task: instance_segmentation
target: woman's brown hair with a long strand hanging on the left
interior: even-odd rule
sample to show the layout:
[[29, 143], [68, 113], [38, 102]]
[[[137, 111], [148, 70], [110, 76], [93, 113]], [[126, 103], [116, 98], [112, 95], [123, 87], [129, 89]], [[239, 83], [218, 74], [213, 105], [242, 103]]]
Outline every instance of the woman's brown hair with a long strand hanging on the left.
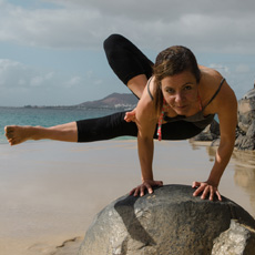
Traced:
[[191, 73], [195, 76], [196, 82], [200, 82], [201, 71], [198, 69], [196, 58], [190, 49], [182, 45], [174, 45], [157, 54], [153, 67], [153, 74], [156, 84], [155, 108], [159, 113], [163, 106], [161, 81], [166, 76], [172, 76], [183, 71], [191, 71]]

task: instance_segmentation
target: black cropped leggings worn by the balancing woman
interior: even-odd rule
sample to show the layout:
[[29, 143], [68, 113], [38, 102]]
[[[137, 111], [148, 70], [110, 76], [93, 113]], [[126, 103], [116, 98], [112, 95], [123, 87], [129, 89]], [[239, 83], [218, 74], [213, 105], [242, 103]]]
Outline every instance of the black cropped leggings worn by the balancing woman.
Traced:
[[[145, 74], [147, 79], [152, 75], [153, 62], [126, 38], [120, 34], [110, 35], [104, 41], [104, 51], [110, 67], [124, 84], [139, 74]], [[125, 122], [124, 115], [125, 112], [119, 112], [103, 118], [78, 121], [78, 142], [110, 140], [123, 135], [137, 136], [136, 124]], [[162, 125], [162, 139], [185, 140], [201, 131], [190, 122], [176, 121]], [[154, 137], [157, 137], [156, 130]]]

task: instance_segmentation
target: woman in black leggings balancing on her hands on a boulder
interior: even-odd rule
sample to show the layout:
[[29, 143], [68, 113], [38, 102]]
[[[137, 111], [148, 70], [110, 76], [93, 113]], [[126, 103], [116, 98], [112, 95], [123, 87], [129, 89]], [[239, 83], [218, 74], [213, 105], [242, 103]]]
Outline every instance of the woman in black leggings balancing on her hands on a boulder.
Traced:
[[185, 140], [202, 132], [218, 115], [221, 143], [207, 181], [194, 182], [194, 196], [216, 194], [222, 174], [231, 159], [237, 118], [237, 102], [225, 79], [213, 69], [197, 65], [194, 54], [184, 47], [162, 51], [153, 63], [128, 39], [112, 34], [104, 41], [109, 63], [115, 74], [140, 99], [132, 112], [83, 120], [52, 128], [6, 126], [11, 145], [27, 140], [51, 139], [92, 142], [121, 135], [137, 136], [142, 184], [131, 194], [143, 196], [154, 181], [153, 139]]

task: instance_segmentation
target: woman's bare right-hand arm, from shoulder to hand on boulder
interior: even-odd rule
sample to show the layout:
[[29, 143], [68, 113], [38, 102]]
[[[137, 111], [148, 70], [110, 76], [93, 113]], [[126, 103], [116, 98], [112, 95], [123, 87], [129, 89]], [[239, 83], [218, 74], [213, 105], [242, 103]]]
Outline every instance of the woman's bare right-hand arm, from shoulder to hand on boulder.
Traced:
[[193, 195], [197, 196], [202, 193], [201, 197], [205, 198], [210, 194], [210, 200], [213, 200], [214, 194], [217, 195], [218, 200], [222, 200], [217, 187], [235, 144], [237, 101], [234, 92], [227, 84], [223, 85], [216, 105], [220, 120], [221, 143], [216, 151], [215, 162], [206, 182], [193, 183], [193, 187], [198, 186]]

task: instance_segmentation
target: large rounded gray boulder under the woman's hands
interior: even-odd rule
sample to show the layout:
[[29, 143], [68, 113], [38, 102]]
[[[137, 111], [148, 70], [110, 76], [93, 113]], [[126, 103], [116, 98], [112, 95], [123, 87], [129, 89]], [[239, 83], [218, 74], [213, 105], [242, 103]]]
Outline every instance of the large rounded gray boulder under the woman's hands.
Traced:
[[[120, 197], [96, 215], [79, 255], [254, 255], [254, 218], [225, 197], [211, 202], [193, 192], [165, 185], [143, 197]], [[221, 253], [223, 245], [239, 253]]]

